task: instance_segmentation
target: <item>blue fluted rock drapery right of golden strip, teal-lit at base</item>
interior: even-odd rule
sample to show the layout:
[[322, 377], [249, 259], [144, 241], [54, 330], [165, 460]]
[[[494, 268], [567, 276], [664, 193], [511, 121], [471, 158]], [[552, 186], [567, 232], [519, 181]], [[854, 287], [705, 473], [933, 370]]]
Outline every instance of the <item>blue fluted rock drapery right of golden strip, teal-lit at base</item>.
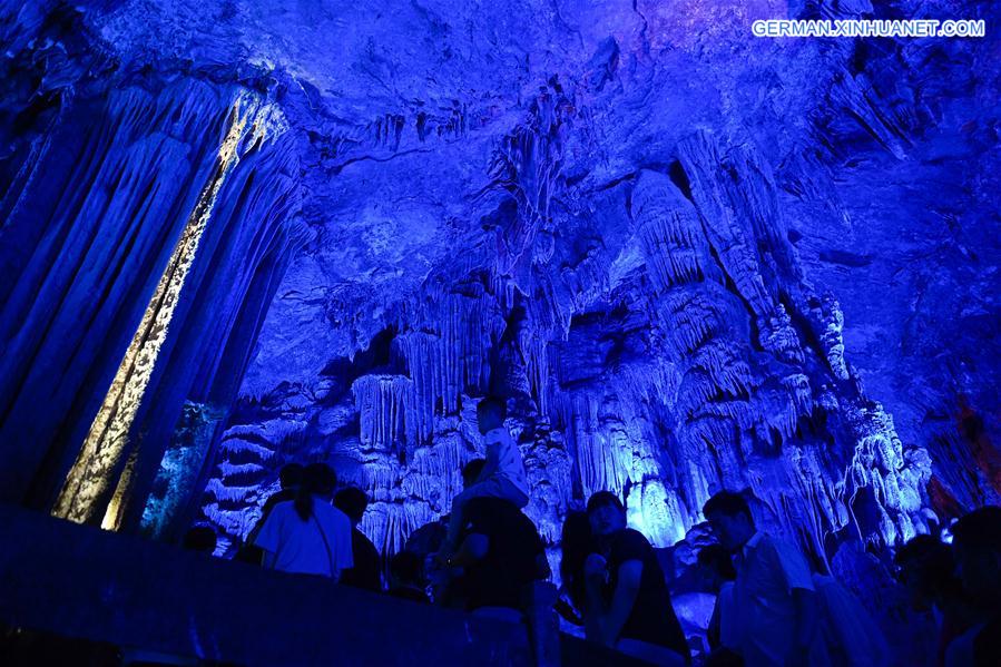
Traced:
[[[141, 448], [122, 517], [128, 528], [155, 532], [156, 524], [177, 531], [197, 510], [190, 496], [181, 504], [163, 502], [156, 482], [169, 468], [167, 454], [184, 441], [181, 401], [230, 404], [263, 313], [289, 257], [308, 236], [296, 217], [298, 167], [287, 136], [281, 112], [262, 105], [254, 131], [241, 139], [239, 161], [223, 186], [189, 288], [181, 293], [176, 330], [160, 350], [163, 372], [137, 413], [134, 431]], [[197, 485], [207, 479], [226, 416], [204, 435], [205, 457], [189, 472]], [[160, 516], [157, 507], [170, 508], [169, 516]]]

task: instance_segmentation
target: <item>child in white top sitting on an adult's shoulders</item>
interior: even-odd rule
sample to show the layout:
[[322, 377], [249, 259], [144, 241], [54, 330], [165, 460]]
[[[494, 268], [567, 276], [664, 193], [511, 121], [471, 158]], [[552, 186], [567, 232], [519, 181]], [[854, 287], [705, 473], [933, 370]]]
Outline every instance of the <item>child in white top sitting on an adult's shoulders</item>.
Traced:
[[480, 477], [465, 484], [462, 493], [452, 499], [452, 517], [445, 537], [443, 556], [455, 549], [459, 533], [465, 524], [463, 508], [473, 498], [499, 498], [523, 508], [529, 501], [528, 481], [521, 451], [511, 438], [504, 419], [507, 405], [503, 399], [485, 396], [477, 404], [477, 421], [487, 445], [487, 463]]

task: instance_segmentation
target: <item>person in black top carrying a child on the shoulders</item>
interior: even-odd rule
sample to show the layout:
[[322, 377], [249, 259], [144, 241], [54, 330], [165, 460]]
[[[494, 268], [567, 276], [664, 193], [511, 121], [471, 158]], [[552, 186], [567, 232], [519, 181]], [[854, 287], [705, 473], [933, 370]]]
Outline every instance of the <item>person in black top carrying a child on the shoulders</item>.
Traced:
[[[475, 465], [467, 465], [463, 477], [475, 479]], [[465, 570], [457, 587], [468, 611], [521, 610], [526, 586], [550, 573], [536, 524], [510, 500], [489, 497], [473, 498], [463, 508], [460, 547], [446, 566]]]

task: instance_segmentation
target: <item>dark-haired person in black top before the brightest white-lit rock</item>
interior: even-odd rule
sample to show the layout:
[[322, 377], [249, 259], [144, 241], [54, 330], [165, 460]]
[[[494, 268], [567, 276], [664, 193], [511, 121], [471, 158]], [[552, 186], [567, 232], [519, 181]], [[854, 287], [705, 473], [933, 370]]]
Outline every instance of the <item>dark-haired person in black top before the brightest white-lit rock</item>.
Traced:
[[626, 528], [626, 508], [609, 491], [588, 500], [595, 536], [583, 566], [589, 639], [656, 665], [686, 665], [688, 643], [650, 542]]

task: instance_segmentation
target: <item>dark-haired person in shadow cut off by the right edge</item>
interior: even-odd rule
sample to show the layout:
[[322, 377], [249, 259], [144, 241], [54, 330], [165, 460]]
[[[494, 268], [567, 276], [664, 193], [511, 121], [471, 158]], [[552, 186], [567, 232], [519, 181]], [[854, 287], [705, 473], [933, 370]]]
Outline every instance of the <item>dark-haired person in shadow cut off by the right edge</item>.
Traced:
[[1001, 665], [1001, 508], [982, 507], [952, 527], [956, 573], [979, 621], [945, 653], [949, 667]]

